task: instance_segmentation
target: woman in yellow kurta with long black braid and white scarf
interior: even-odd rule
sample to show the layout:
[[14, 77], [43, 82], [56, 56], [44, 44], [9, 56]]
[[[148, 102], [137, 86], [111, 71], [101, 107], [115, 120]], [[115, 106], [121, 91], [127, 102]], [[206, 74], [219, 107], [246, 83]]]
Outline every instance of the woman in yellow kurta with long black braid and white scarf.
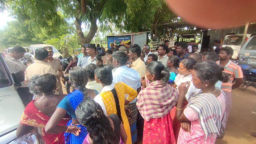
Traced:
[[[132, 144], [131, 131], [124, 105], [137, 96], [137, 91], [124, 83], [113, 83], [111, 68], [107, 65], [99, 65], [95, 70], [95, 80], [102, 84], [103, 89], [94, 100], [100, 104], [106, 115], [116, 114], [123, 122], [127, 134], [127, 144]], [[125, 94], [129, 96], [125, 99]]]

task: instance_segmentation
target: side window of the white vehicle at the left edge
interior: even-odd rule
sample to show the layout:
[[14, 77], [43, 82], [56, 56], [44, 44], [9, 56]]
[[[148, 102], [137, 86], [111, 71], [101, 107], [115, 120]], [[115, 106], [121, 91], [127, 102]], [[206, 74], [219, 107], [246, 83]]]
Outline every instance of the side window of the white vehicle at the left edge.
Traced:
[[12, 84], [11, 78], [8, 76], [4, 63], [0, 63], [0, 88], [7, 87]]

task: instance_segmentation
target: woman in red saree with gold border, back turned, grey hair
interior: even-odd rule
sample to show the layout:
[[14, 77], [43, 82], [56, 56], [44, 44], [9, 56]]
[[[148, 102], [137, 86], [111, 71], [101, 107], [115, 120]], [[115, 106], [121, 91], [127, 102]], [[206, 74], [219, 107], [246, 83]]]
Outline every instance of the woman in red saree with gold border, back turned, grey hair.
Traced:
[[[64, 95], [54, 94], [56, 88], [56, 76], [45, 74], [39, 76], [34, 84], [34, 87], [39, 92], [42, 92], [42, 97], [38, 100], [32, 100], [25, 108], [20, 118], [20, 124], [16, 135], [22, 136], [34, 128], [40, 128], [42, 138], [46, 144], [63, 144], [64, 132], [58, 134], [46, 133], [44, 127], [55, 111], [60, 100]], [[62, 118], [59, 125], [66, 126], [69, 118]], [[73, 131], [74, 128], [69, 128], [68, 131]]]

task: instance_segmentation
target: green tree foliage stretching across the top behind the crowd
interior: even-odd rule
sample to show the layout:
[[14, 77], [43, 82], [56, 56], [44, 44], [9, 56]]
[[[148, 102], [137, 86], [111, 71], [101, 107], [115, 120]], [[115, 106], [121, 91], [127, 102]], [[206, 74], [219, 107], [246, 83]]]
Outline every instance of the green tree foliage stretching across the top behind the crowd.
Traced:
[[[5, 4], [7, 10], [17, 20], [15, 25], [8, 25], [4, 31], [0, 31], [4, 37], [0, 40], [1, 47], [44, 42], [58, 49], [65, 47], [66, 53], [70, 53], [73, 48], [78, 47], [78, 43], [106, 39], [99, 35], [99, 31], [96, 32], [97, 28], [90, 27], [96, 24], [95, 21], [98, 21], [98, 27], [104, 35], [151, 31], [151, 39], [159, 39], [163, 35], [170, 37], [169, 34], [173, 32], [166, 29], [163, 33], [164, 28], [159, 24], [179, 20], [166, 6], [164, 0], [6, 0], [1, 2], [0, 0], [0, 4]], [[90, 29], [84, 33], [81, 24], [85, 24]], [[67, 43], [69, 45], [64, 46]]]

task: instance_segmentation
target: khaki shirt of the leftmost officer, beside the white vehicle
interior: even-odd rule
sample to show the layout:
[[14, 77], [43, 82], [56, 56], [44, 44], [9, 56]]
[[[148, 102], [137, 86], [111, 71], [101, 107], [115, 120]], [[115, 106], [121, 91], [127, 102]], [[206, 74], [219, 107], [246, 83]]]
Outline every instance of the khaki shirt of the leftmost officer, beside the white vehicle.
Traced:
[[[26, 66], [21, 63], [20, 60], [16, 60], [15, 58], [13, 57], [10, 57], [10, 56], [6, 56], [4, 58], [8, 68], [10, 69], [11, 73], [13, 72], [18, 72], [18, 71], [25, 71], [26, 69]], [[25, 84], [25, 82], [21, 82], [21, 86], [20, 87], [27, 87], [27, 85]]]

